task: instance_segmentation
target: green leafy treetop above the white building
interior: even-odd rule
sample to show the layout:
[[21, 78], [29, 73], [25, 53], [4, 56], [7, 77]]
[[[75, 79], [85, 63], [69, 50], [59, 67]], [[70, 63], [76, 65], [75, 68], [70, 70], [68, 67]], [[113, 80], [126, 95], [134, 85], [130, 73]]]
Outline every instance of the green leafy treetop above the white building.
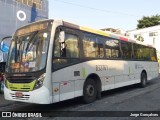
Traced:
[[138, 20], [137, 29], [160, 25], [160, 15], [143, 16], [142, 19]]

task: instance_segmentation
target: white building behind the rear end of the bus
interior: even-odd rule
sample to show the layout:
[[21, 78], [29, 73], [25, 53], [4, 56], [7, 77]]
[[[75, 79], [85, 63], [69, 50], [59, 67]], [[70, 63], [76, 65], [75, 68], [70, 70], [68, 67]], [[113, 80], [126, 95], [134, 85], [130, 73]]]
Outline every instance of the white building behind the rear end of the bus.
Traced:
[[127, 31], [127, 36], [133, 40], [140, 40], [146, 44], [155, 46], [160, 62], [160, 25], [138, 30]]

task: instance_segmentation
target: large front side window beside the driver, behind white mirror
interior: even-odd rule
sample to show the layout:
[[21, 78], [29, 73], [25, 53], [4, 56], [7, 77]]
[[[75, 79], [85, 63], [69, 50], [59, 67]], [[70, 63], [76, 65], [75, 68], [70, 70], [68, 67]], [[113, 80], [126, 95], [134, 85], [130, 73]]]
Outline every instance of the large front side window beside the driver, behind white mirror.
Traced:
[[[63, 34], [60, 34], [63, 32]], [[54, 42], [53, 70], [79, 61], [78, 35], [57, 31]]]

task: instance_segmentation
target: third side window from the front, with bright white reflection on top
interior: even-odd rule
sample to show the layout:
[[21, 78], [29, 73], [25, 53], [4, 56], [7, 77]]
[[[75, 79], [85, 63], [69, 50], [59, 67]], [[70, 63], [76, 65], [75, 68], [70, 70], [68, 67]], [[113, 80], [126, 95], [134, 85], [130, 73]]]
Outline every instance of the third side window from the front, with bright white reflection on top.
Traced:
[[105, 49], [106, 49], [107, 58], [119, 58], [120, 57], [120, 49], [119, 49], [118, 40], [108, 39], [105, 42]]

